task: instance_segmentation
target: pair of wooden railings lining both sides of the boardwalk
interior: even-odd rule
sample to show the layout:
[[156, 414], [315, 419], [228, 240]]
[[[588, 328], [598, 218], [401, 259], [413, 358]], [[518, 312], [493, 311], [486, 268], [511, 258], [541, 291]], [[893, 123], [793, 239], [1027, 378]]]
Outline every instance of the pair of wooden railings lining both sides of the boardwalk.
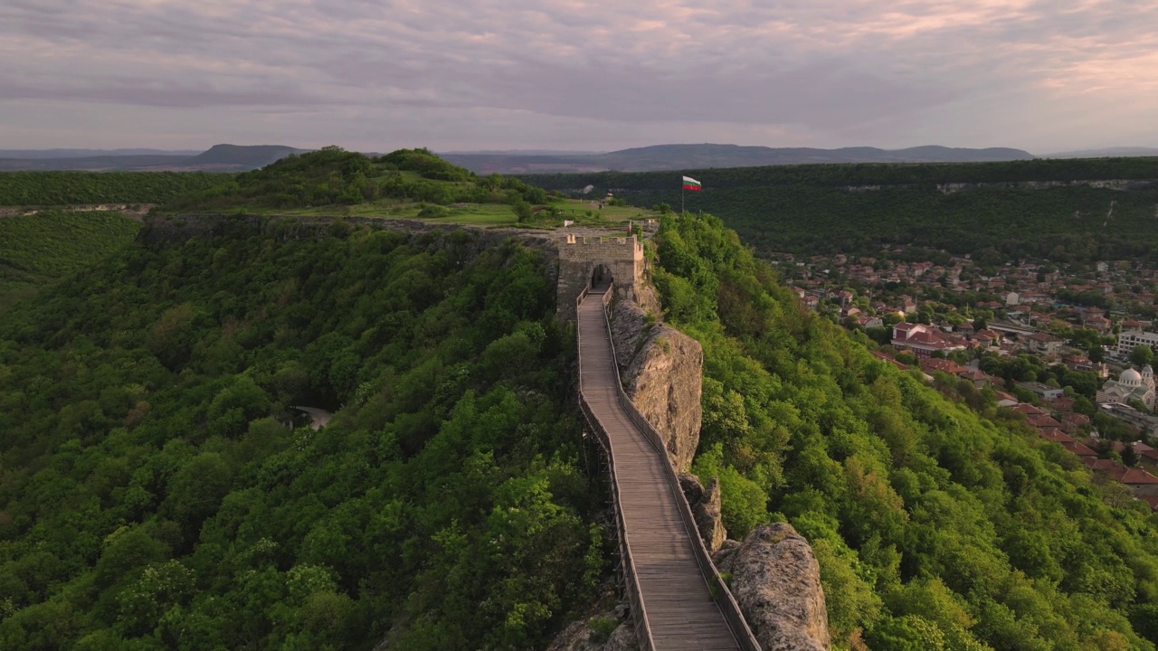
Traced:
[[[683, 489], [680, 487], [680, 477], [675, 471], [675, 467], [672, 465], [672, 459], [667, 454], [667, 446], [664, 442], [664, 438], [655, 431], [655, 427], [652, 426], [647, 418], [639, 412], [636, 405], [631, 402], [631, 398], [629, 398], [628, 394], [623, 390], [623, 380], [620, 376], [620, 365], [615, 354], [615, 339], [611, 337], [611, 324], [608, 319], [608, 303], [614, 294], [613, 288], [614, 286], [609, 286], [601, 299], [603, 303], [603, 322], [607, 327], [607, 336], [611, 346], [611, 367], [615, 370], [615, 390], [617, 402], [626, 412], [631, 422], [639, 427], [639, 431], [643, 432], [644, 437], [654, 448], [655, 453], [662, 458], [664, 476], [667, 480], [668, 490], [672, 491], [672, 495], [675, 498], [675, 503], [680, 511], [680, 519], [683, 521], [683, 527], [688, 533], [688, 537], [691, 540], [692, 554], [696, 557], [699, 572], [709, 586], [709, 592], [711, 593], [712, 599], [716, 601], [716, 605], [724, 615], [728, 628], [732, 630], [732, 635], [735, 637], [736, 643], [740, 649], [743, 649], [745, 651], [762, 651], [760, 643], [756, 641], [756, 636], [753, 635], [752, 629], [748, 627], [748, 622], [743, 619], [743, 615], [740, 612], [740, 605], [736, 604], [735, 598], [727, 587], [727, 584], [724, 583], [719, 570], [717, 570], [711, 555], [708, 553], [708, 548], [704, 546], [703, 539], [699, 537], [699, 528], [696, 526], [696, 519], [691, 513], [691, 506], [688, 504], [688, 499], [683, 495]], [[577, 316], [579, 314], [579, 306], [589, 294], [591, 285], [588, 284], [576, 299]], [[620, 558], [624, 573], [623, 578], [626, 587], [628, 601], [631, 605], [631, 612], [636, 623], [636, 639], [639, 641], [642, 649], [651, 651], [655, 649], [654, 639], [639, 587], [639, 578], [636, 571], [636, 565], [631, 559], [631, 543], [628, 537], [626, 528], [624, 527], [623, 511], [620, 506], [622, 499], [620, 495], [620, 485], [616, 481], [615, 454], [611, 449], [610, 437], [608, 436], [607, 430], [603, 427], [599, 417], [595, 416], [582, 392], [582, 341], [579, 338], [579, 328], [576, 328], [576, 336], [579, 342], [579, 405], [584, 416], [587, 418], [588, 424], [592, 426], [592, 430], [594, 430], [600, 446], [607, 453], [608, 473], [611, 478], [611, 499], [616, 515], [616, 533], [620, 542]]]

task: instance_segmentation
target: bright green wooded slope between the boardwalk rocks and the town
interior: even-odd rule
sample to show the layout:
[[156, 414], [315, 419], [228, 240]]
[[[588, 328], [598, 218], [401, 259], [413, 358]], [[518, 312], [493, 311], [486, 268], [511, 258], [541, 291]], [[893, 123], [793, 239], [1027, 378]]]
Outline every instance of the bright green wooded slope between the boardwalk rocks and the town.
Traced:
[[692, 470], [720, 477], [732, 537], [770, 519], [808, 537], [836, 648], [1155, 649], [1149, 507], [972, 383], [875, 360], [717, 218], [657, 237], [666, 317], [704, 345]]

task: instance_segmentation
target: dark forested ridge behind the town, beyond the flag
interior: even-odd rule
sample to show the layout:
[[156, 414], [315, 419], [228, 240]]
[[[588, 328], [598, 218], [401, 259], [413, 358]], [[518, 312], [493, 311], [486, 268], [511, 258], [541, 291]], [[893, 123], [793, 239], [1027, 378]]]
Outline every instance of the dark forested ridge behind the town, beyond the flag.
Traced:
[[[873, 254], [916, 243], [1006, 258], [1158, 259], [1158, 159], [702, 169], [686, 207], [724, 219], [760, 251]], [[522, 176], [592, 184], [644, 206], [680, 205], [677, 173]], [[1073, 184], [1121, 181], [1116, 189]], [[1113, 210], [1111, 210], [1113, 209]]]

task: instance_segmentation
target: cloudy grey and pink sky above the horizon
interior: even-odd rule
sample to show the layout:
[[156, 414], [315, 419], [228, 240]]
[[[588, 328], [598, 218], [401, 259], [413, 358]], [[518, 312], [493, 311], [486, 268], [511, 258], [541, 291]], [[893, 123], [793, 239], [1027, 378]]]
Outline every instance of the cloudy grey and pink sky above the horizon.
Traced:
[[1158, 0], [0, 0], [0, 148], [1158, 146]]

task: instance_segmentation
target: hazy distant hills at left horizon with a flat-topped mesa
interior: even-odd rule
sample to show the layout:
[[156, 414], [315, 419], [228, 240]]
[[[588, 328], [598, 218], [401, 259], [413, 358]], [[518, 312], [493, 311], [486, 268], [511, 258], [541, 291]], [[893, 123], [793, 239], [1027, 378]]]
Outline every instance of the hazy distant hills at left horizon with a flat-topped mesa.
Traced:
[[309, 149], [214, 145], [206, 152], [159, 149], [0, 149], [0, 171], [249, 171]]

